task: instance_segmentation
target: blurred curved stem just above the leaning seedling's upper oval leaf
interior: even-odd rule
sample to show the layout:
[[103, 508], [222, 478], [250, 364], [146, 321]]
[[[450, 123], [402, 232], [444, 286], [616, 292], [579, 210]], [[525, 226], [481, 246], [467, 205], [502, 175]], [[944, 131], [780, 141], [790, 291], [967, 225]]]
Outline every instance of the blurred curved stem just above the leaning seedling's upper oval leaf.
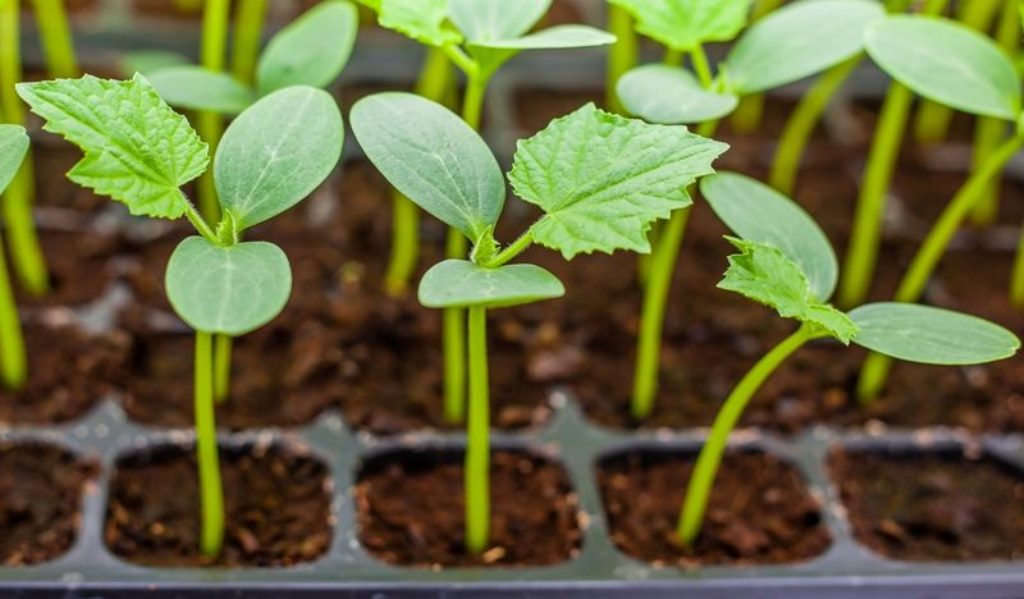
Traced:
[[833, 67], [814, 82], [800, 103], [790, 115], [785, 128], [779, 137], [778, 148], [771, 165], [769, 181], [771, 186], [785, 196], [793, 196], [800, 171], [800, 162], [814, 133], [814, 128], [821, 120], [821, 115], [850, 75], [857, 69], [863, 54], [857, 54], [845, 62]]

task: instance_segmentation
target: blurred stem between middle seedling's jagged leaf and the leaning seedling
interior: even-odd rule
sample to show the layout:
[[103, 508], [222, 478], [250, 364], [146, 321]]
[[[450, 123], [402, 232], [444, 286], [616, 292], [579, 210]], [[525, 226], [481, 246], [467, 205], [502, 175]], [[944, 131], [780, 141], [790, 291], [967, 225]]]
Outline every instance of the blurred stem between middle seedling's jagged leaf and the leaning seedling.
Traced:
[[647, 284], [643, 288], [643, 309], [637, 336], [637, 357], [633, 376], [633, 398], [630, 412], [635, 420], [650, 416], [657, 396], [658, 366], [662, 353], [662, 333], [665, 308], [672, 289], [672, 275], [676, 270], [679, 249], [686, 231], [690, 208], [672, 214], [651, 254]]

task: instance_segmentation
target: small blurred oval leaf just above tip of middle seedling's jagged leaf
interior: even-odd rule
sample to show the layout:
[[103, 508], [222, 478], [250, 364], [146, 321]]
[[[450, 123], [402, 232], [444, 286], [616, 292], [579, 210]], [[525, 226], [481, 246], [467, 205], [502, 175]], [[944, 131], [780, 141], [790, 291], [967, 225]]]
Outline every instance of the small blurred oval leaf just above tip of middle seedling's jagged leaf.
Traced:
[[700, 86], [689, 71], [666, 65], [637, 67], [618, 79], [618, 99], [632, 115], [649, 123], [680, 125], [721, 119], [739, 98]]

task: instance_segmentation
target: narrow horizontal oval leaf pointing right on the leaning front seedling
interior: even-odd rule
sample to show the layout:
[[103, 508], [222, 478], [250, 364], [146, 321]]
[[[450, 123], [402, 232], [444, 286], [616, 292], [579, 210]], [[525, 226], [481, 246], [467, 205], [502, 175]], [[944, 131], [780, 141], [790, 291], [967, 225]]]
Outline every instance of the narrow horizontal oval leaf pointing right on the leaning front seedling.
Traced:
[[998, 325], [930, 306], [867, 304], [850, 317], [860, 328], [854, 343], [907, 361], [983, 363], [1010, 357], [1020, 348], [1017, 336]]

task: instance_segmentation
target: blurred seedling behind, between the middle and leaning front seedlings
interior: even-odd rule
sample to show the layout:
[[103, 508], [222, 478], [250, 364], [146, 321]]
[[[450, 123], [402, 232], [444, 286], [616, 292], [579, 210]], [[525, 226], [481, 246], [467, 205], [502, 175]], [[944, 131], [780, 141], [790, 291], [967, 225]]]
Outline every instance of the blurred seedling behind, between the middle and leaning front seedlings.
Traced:
[[[639, 0], [631, 1], [639, 4]], [[716, 6], [721, 11], [727, 5], [732, 6], [730, 3]], [[638, 18], [643, 18], [643, 14], [648, 19], [654, 18], [654, 13], [640, 12]], [[721, 31], [738, 31], [744, 13], [736, 12], [731, 27]], [[719, 67], [717, 78], [712, 77], [700, 42], [684, 37], [670, 47], [689, 47], [696, 78], [688, 71], [666, 65], [639, 67], [620, 80], [618, 96], [629, 112], [647, 121], [702, 123], [699, 131], [710, 134], [718, 119], [735, 110], [740, 97], [804, 79], [858, 54], [863, 47], [864, 27], [882, 16], [881, 6], [864, 0], [798, 2], [752, 26], [733, 45]], [[684, 27], [688, 18], [680, 15], [678, 22], [658, 22], [658, 25], [676, 35], [689, 29], [716, 31], [707, 24], [703, 29]], [[651, 23], [641, 31], [657, 30]], [[662, 38], [671, 39], [668, 34]], [[646, 270], [631, 408], [636, 419], [649, 416], [657, 395], [665, 309], [687, 216], [687, 211], [673, 216], [654, 242]]]

